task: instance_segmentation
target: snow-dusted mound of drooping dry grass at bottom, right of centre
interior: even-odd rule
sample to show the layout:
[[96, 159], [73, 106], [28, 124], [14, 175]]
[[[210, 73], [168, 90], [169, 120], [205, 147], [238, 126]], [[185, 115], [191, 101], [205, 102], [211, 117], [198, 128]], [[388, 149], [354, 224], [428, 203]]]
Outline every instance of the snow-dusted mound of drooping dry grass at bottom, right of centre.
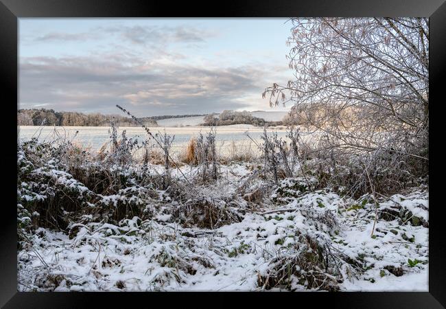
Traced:
[[[316, 201], [321, 201], [317, 198], [320, 194], [313, 195]], [[341, 229], [335, 214], [333, 210], [320, 208], [318, 202], [298, 207], [286, 216], [276, 215], [276, 221], [287, 218], [296, 223], [284, 224], [288, 226], [284, 231], [277, 227], [279, 238], [275, 244], [282, 248], [270, 260], [266, 270], [258, 273], [259, 288], [340, 290], [346, 273], [355, 273], [357, 262], [333, 247], [333, 236]]]

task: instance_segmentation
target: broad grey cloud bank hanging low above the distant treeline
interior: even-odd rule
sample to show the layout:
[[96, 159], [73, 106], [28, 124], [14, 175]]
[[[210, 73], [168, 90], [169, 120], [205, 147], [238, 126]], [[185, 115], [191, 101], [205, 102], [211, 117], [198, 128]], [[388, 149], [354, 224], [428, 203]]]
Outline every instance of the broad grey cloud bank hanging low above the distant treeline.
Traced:
[[237, 98], [263, 91], [261, 71], [252, 67], [202, 69], [149, 67], [126, 56], [111, 58], [25, 58], [20, 64], [20, 104], [47, 104], [56, 111], [116, 113], [115, 104], [138, 116], [210, 113], [244, 108]]

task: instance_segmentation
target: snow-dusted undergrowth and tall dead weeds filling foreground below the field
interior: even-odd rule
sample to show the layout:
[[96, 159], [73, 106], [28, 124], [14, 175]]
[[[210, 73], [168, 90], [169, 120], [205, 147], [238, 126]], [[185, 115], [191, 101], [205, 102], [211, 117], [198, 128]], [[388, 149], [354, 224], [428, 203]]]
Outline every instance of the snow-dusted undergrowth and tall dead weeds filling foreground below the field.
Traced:
[[99, 152], [19, 142], [19, 290], [427, 290], [427, 179], [372, 193], [368, 157], [288, 137], [263, 135], [260, 157], [220, 155], [214, 130], [178, 155], [114, 127]]

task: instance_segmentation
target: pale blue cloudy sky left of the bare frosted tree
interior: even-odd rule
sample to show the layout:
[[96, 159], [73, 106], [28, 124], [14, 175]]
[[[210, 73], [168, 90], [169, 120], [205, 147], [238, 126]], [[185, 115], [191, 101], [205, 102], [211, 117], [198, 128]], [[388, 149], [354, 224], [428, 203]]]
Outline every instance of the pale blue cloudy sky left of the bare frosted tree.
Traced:
[[268, 111], [263, 90], [292, 78], [290, 27], [286, 19], [19, 19], [19, 108]]

